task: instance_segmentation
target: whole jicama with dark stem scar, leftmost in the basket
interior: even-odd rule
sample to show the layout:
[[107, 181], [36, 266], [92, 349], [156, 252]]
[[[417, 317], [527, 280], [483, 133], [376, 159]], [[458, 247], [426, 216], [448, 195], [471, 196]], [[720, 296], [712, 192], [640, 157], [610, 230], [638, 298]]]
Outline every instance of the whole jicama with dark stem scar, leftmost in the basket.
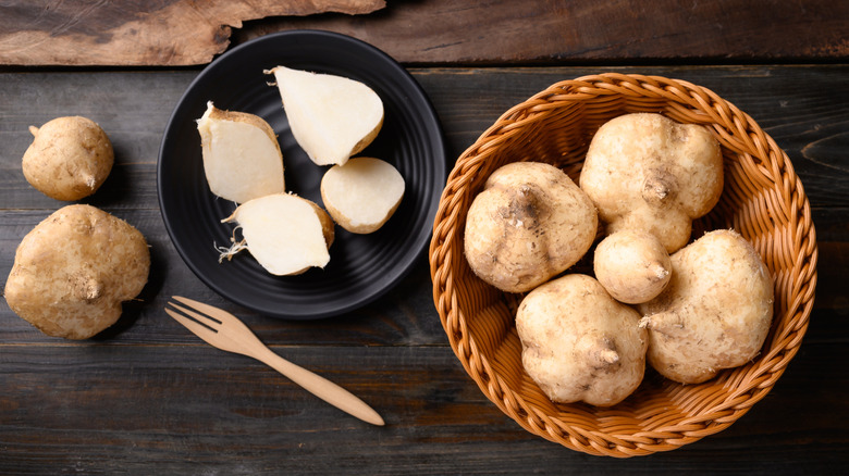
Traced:
[[504, 165], [466, 216], [465, 254], [481, 279], [524, 292], [578, 262], [595, 239], [590, 199], [563, 171], [540, 162]]

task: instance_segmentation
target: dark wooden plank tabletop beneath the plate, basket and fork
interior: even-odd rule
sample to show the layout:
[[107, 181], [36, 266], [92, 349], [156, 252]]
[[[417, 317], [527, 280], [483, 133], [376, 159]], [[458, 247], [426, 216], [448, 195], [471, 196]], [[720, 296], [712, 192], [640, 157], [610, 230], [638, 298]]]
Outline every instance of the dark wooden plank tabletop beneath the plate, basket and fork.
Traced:
[[[555, 8], [530, 1], [512, 13], [512, 2], [435, 1], [390, 2], [368, 15], [249, 22], [232, 40], [324, 28], [372, 41], [402, 61], [430, 96], [445, 130], [448, 167], [502, 112], [552, 83], [587, 74], [686, 79], [748, 112], [802, 179], [820, 266], [801, 350], [768, 396], [730, 428], [629, 460], [590, 456], [528, 434], [482, 396], [454, 356], [432, 302], [424, 253], [393, 292], [337, 317], [281, 321], [225, 301], [180, 259], [157, 201], [164, 126], [202, 64], [8, 64], [0, 66], [0, 276], [8, 276], [24, 235], [64, 204], [23, 177], [27, 127], [70, 114], [100, 123], [116, 152], [106, 185], [83, 202], [139, 228], [151, 246], [152, 270], [119, 323], [87, 341], [47, 337], [0, 302], [0, 474], [845, 471], [847, 8], [800, 2], [788, 11], [784, 2], [725, 1], [693, 2], [685, 11], [661, 3], [667, 13], [659, 17], [656, 35], [645, 26], [652, 12], [643, 2]], [[770, 14], [736, 10], [751, 3], [770, 3], [762, 5]], [[481, 18], [497, 22], [492, 28], [502, 35]], [[601, 39], [589, 37], [591, 28]], [[162, 312], [174, 293], [242, 316], [275, 352], [372, 404], [386, 426], [361, 423], [262, 364], [202, 343]]]

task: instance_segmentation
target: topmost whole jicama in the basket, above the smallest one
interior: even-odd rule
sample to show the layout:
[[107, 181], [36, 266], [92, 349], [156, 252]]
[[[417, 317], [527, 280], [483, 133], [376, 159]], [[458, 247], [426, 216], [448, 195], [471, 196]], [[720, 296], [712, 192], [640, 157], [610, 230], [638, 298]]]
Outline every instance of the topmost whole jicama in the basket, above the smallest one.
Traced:
[[626, 114], [593, 136], [580, 187], [598, 206], [607, 234], [647, 231], [673, 253], [690, 240], [692, 221], [719, 200], [722, 152], [703, 126]]

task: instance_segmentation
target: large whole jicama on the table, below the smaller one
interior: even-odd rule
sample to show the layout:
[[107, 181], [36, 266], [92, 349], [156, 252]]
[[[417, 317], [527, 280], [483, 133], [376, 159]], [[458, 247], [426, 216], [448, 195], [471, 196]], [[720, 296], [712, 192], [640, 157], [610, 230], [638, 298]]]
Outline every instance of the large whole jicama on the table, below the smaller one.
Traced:
[[4, 295], [42, 333], [87, 339], [118, 321], [149, 270], [150, 252], [136, 228], [94, 206], [67, 205], [21, 241]]

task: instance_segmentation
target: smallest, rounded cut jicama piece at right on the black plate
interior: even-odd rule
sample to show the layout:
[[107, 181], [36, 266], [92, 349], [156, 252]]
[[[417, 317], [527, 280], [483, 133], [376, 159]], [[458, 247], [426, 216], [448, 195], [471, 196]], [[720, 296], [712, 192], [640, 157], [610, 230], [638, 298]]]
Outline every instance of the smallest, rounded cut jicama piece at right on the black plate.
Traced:
[[321, 178], [321, 199], [343, 228], [355, 234], [377, 231], [395, 213], [404, 197], [404, 177], [389, 162], [359, 156], [334, 165]]

